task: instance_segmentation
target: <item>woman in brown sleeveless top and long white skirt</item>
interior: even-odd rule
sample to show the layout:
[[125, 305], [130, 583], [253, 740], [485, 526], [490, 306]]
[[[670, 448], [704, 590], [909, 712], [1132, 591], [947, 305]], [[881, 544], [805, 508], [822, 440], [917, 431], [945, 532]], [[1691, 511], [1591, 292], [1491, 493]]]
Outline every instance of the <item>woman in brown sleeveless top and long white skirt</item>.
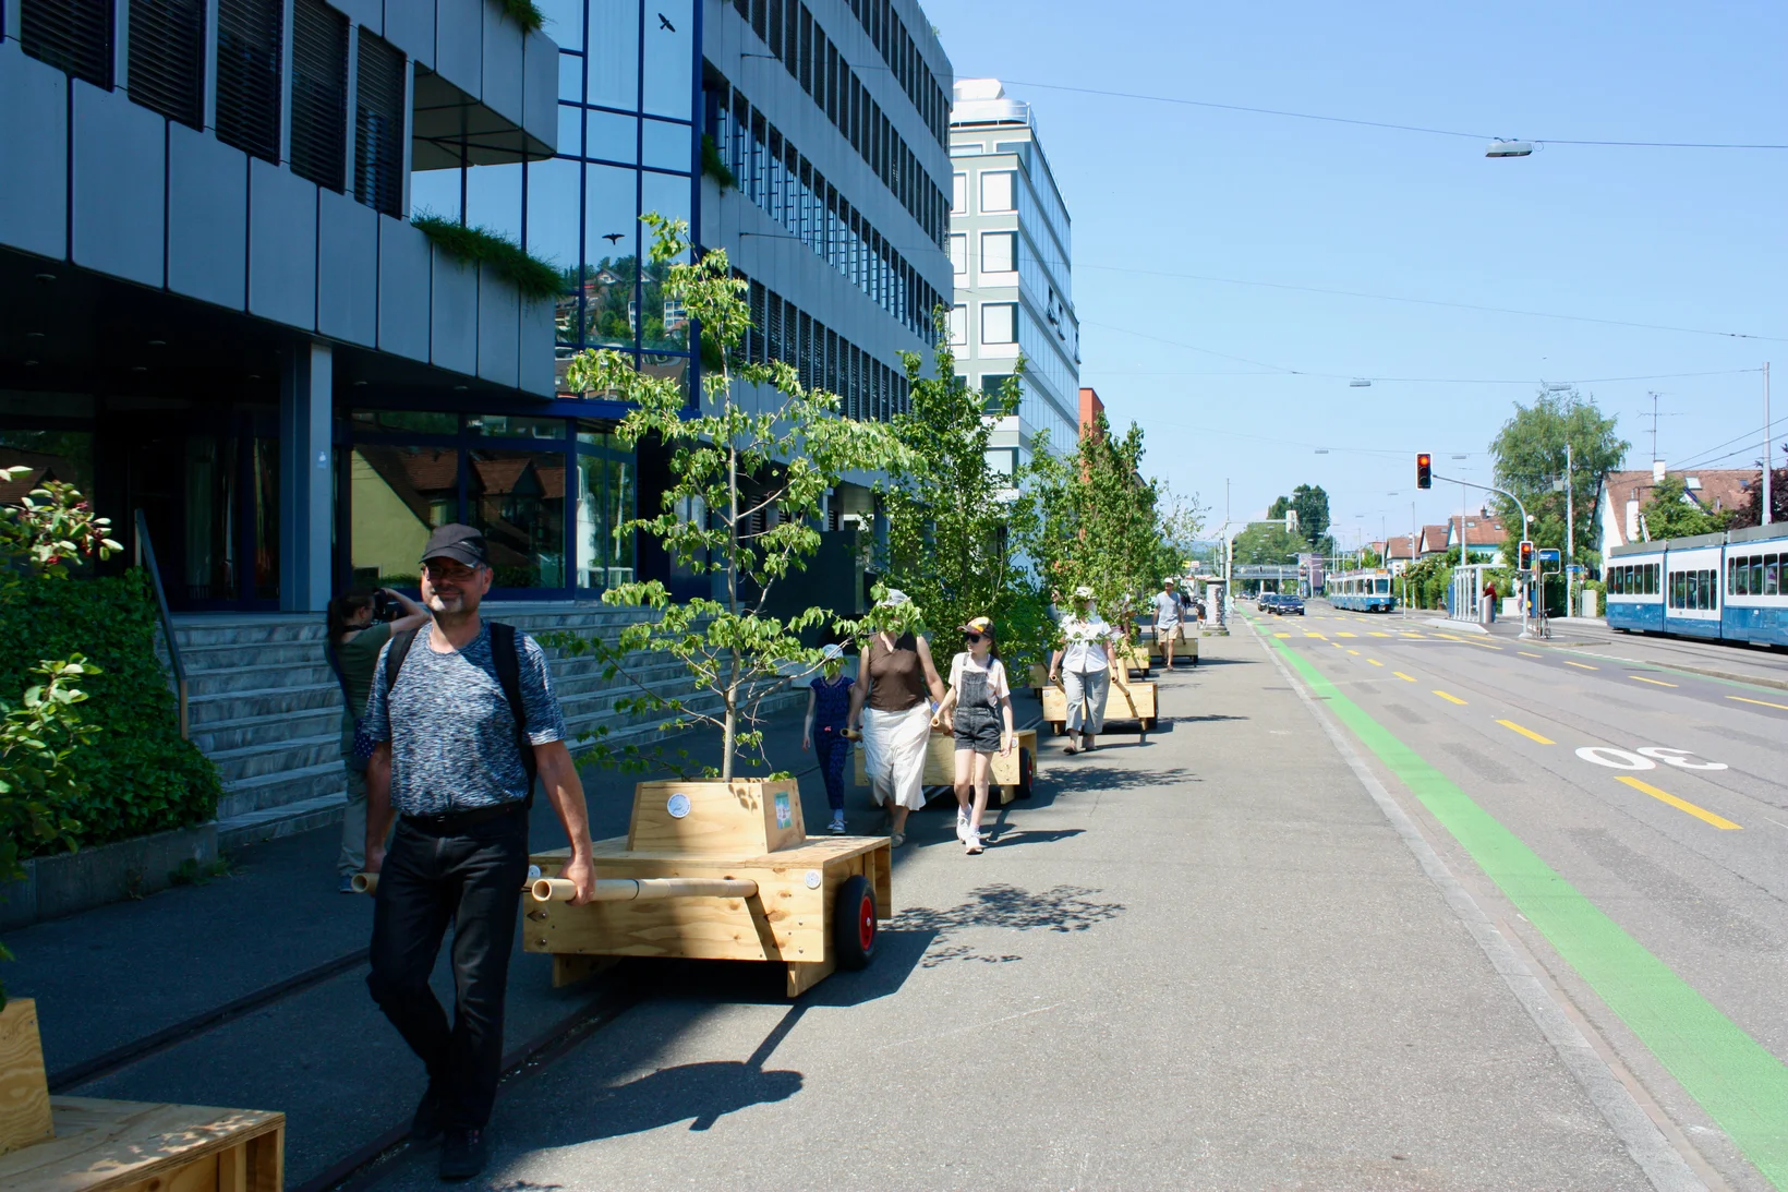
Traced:
[[907, 843], [907, 816], [924, 805], [932, 705], [942, 703], [944, 684], [932, 648], [914, 632], [919, 610], [907, 594], [890, 591], [878, 609], [892, 614], [890, 625], [864, 646], [851, 689], [851, 728], [862, 723], [869, 793], [889, 809], [890, 843], [899, 848]]

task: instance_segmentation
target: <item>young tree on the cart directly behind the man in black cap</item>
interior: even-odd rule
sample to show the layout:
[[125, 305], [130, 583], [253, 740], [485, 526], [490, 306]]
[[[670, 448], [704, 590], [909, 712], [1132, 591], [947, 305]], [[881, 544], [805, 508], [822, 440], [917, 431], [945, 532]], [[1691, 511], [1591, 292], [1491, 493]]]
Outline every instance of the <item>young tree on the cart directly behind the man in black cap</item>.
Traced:
[[[637, 694], [619, 700], [617, 711], [667, 712], [667, 730], [719, 728], [721, 766], [710, 777], [731, 780], [744, 750], [769, 764], [758, 714], [763, 698], [789, 668], [819, 666], [819, 650], [805, 646], [801, 634], [830, 616], [817, 607], [787, 619], [765, 616], [771, 592], [819, 549], [815, 523], [826, 490], [848, 471], [896, 467], [905, 451], [887, 426], [842, 417], [840, 399], [803, 387], [792, 365], [740, 363], [737, 349], [751, 326], [747, 283], [731, 276], [722, 251], [688, 261], [683, 220], [642, 218], [653, 229], [651, 261], [665, 270], [665, 301], [679, 302], [701, 328], [708, 367], [699, 404], [690, 408], [679, 379], [635, 370], [615, 351], [579, 353], [567, 381], [574, 392], [604, 392], [633, 404], [617, 430], [622, 442], [656, 437], [670, 447], [672, 483], [662, 508], [617, 533], [651, 533], [697, 575], [717, 576], [719, 594], [672, 601], [658, 580], [622, 583], [603, 592], [603, 601], [651, 609], [653, 619], [626, 626], [613, 644], [578, 635], [552, 644], [595, 653], [610, 678], [633, 684]], [[747, 408], [737, 383], [763, 387], [772, 399]], [[717, 696], [719, 711], [660, 694], [638, 678], [640, 662], [658, 653], [683, 662], [696, 689]], [[595, 757], [629, 764], [638, 750], [617, 754], [599, 743]]]

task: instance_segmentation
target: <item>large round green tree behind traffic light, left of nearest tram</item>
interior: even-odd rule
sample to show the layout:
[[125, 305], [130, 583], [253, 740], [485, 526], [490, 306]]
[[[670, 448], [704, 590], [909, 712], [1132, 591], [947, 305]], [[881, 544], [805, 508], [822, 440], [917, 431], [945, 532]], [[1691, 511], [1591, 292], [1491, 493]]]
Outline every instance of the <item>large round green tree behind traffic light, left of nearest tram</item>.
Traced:
[[[1570, 444], [1572, 501], [1575, 514], [1577, 549], [1591, 542], [1595, 524], [1595, 494], [1602, 476], [1620, 467], [1631, 446], [1618, 435], [1618, 419], [1604, 417], [1593, 399], [1577, 390], [1541, 390], [1531, 406], [1516, 404], [1514, 417], [1489, 444], [1497, 462], [1495, 483], [1522, 498], [1534, 519], [1529, 537], [1539, 546], [1564, 546], [1564, 444]], [[1522, 537], [1522, 515], [1511, 501], [1497, 498], [1495, 514], [1509, 528], [1511, 539]]]

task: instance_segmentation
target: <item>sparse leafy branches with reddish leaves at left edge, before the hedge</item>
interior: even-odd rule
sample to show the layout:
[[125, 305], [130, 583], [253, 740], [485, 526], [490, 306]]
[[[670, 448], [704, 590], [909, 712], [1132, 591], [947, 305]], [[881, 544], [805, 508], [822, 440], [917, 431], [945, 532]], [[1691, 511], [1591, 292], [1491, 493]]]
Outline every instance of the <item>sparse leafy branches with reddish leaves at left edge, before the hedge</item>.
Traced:
[[[0, 467], [0, 480], [18, 480], [29, 467]], [[68, 578], [79, 558], [111, 557], [122, 549], [109, 537], [111, 523], [73, 485], [48, 481], [18, 505], [0, 507], [0, 601], [16, 600], [23, 575]], [[0, 698], [0, 884], [25, 875], [23, 850], [61, 839], [75, 848], [80, 825], [68, 814], [84, 793], [70, 773], [68, 757], [97, 732], [75, 707], [88, 696], [75, 687], [97, 668], [79, 653], [32, 668], [41, 682], [20, 700]], [[13, 954], [0, 945], [0, 959]], [[5, 984], [0, 983], [0, 1009]]]

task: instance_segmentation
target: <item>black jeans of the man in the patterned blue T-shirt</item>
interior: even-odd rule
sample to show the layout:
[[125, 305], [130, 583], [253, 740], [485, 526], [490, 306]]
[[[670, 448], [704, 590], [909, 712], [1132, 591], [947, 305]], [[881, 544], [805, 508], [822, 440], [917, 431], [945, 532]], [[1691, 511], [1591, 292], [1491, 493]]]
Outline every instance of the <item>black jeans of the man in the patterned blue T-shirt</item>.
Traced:
[[[401, 820], [372, 913], [367, 986], [442, 1097], [442, 1124], [483, 1129], [502, 1076], [502, 997], [527, 881], [527, 813], [434, 829]], [[429, 988], [452, 922], [454, 1020]]]

